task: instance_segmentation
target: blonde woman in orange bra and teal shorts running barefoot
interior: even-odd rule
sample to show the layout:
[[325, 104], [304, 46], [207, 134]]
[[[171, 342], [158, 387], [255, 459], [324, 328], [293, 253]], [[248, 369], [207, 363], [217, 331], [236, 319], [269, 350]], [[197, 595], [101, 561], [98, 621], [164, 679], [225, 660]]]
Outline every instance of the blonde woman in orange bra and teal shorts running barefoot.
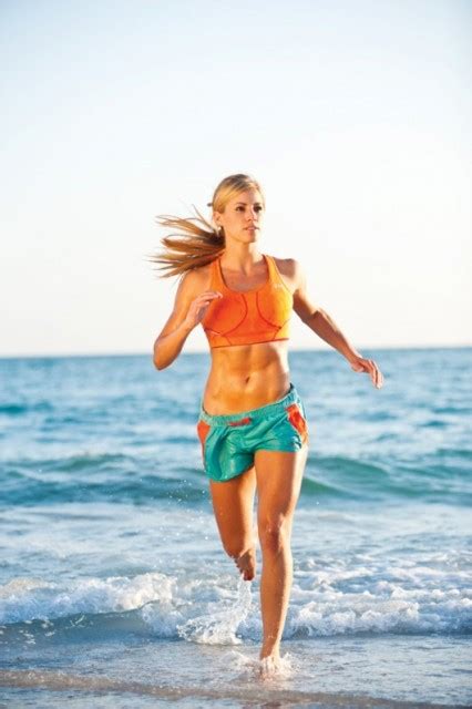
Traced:
[[[154, 342], [154, 364], [165, 369], [189, 332], [202, 323], [212, 367], [197, 432], [216, 523], [226, 553], [245, 580], [256, 574], [253, 503], [263, 554], [260, 659], [277, 665], [293, 579], [290, 534], [305, 463], [308, 428], [287, 362], [291, 310], [337, 349], [357, 372], [380, 388], [382, 374], [347, 341], [306, 290], [295, 259], [264, 255], [258, 247], [265, 213], [259, 184], [230, 175], [216, 187], [213, 224], [158, 217], [177, 238], [153, 260], [166, 276], [182, 275], [174, 309]], [[175, 236], [175, 235], [174, 235]]]

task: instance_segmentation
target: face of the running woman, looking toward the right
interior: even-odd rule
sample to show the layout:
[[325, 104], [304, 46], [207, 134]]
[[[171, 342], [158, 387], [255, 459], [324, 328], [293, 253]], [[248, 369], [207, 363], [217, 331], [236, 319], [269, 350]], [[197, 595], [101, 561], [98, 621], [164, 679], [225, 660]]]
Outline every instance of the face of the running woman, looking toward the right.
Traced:
[[256, 242], [264, 216], [264, 202], [257, 189], [247, 189], [233, 197], [224, 212], [215, 212], [214, 219], [223, 226], [226, 240], [235, 239], [244, 244]]

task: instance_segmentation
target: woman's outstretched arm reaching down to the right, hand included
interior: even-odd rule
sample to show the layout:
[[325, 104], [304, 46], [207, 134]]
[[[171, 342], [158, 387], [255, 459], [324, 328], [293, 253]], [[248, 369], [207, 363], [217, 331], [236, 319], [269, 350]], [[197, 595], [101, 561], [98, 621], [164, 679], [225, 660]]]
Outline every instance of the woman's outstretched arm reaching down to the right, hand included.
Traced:
[[305, 273], [297, 261], [294, 261], [294, 265], [296, 280], [296, 289], [294, 291], [295, 312], [310, 330], [346, 357], [356, 372], [367, 372], [370, 374], [374, 387], [380, 389], [383, 383], [383, 376], [376, 362], [371, 359], [365, 359], [342, 335], [339, 327], [326, 310], [322, 310], [322, 308], [319, 308], [310, 300], [307, 292]]

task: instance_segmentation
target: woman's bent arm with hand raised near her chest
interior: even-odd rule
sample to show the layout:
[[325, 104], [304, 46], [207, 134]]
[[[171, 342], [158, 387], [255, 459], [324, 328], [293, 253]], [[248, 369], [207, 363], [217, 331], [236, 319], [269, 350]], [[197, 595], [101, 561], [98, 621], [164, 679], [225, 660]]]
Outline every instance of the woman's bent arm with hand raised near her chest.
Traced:
[[215, 290], [202, 290], [202, 278], [187, 271], [178, 284], [174, 309], [154, 342], [153, 362], [165, 369], [178, 357], [192, 330], [205, 317], [209, 304], [220, 297]]

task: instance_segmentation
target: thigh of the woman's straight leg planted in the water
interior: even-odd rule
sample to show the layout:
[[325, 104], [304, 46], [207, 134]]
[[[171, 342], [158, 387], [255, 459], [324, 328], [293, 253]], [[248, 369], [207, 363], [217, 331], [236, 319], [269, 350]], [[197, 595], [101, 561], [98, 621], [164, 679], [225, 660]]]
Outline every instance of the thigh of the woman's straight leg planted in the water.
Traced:
[[259, 450], [255, 453], [257, 480], [257, 518], [259, 530], [291, 526], [291, 517], [300, 494], [308, 445], [294, 452]]

